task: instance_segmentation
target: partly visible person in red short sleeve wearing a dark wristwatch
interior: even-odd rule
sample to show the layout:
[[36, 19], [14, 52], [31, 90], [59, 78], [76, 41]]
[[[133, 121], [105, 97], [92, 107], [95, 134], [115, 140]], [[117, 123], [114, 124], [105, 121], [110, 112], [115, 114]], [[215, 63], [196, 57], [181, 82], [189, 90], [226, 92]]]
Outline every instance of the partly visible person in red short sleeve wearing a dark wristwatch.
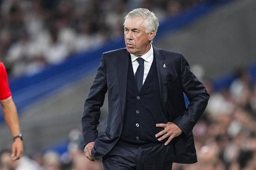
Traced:
[[0, 103], [4, 120], [13, 136], [12, 160], [20, 159], [23, 153], [22, 135], [20, 133], [19, 120], [16, 106], [13, 102], [7, 81], [7, 73], [4, 64], [0, 62]]

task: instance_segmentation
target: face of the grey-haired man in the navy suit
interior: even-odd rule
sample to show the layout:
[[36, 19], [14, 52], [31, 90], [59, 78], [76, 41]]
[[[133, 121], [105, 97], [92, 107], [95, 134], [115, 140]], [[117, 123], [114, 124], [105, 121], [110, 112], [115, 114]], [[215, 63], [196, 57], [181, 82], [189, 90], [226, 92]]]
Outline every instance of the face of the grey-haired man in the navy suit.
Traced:
[[143, 18], [128, 18], [124, 26], [124, 39], [129, 53], [142, 56], [150, 50], [155, 31], [147, 34]]

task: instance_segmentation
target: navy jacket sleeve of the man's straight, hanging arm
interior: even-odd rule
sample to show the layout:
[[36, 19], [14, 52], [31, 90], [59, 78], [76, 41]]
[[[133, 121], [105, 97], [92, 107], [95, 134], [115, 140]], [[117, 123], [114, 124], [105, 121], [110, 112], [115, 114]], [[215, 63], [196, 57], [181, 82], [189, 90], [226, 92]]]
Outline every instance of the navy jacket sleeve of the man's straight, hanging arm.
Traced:
[[106, 68], [104, 54], [102, 55], [99, 68], [92, 83], [88, 98], [85, 100], [82, 116], [82, 132], [84, 146], [89, 142], [94, 142], [98, 137], [97, 127], [101, 115], [102, 107], [107, 92]]

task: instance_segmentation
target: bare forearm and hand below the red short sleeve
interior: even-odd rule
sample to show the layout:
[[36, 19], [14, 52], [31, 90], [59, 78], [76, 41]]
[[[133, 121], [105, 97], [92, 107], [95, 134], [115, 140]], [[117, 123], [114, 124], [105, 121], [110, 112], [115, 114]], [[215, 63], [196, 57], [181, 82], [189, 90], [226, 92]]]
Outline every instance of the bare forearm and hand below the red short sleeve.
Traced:
[[[7, 99], [5, 101], [0, 101], [4, 120], [12, 133], [12, 136], [17, 136], [20, 134], [19, 119], [17, 114], [16, 106], [13, 99]], [[20, 138], [16, 138], [12, 145], [12, 160], [20, 159], [23, 153], [23, 143]]]

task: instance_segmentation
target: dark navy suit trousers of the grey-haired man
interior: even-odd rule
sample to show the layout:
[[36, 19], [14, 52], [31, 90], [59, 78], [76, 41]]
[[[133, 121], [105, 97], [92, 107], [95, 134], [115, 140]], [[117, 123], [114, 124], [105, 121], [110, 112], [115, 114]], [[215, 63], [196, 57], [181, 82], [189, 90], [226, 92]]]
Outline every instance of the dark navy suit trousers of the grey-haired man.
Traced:
[[102, 157], [104, 170], [171, 170], [172, 152], [169, 145], [130, 147], [117, 143]]

